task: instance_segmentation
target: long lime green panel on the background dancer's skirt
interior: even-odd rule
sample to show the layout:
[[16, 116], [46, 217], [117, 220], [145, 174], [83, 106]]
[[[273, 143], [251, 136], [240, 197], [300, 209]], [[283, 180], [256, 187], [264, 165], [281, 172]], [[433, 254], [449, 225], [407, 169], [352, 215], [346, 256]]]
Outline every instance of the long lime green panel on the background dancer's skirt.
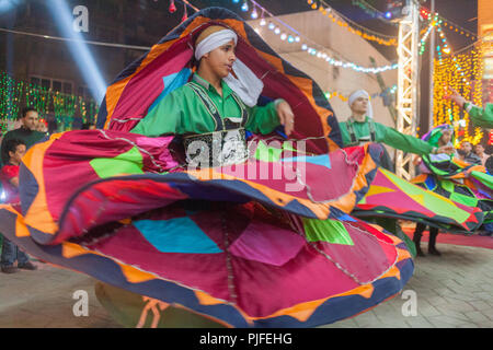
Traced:
[[454, 218], [457, 222], [462, 223], [469, 218], [469, 213], [448, 200], [442, 199], [443, 197], [435, 195], [434, 192], [426, 191], [423, 188], [408, 183], [405, 179], [398, 177], [397, 175], [386, 171], [381, 172], [397, 186], [399, 186], [408, 196], [423, 196], [422, 206], [428, 210], [435, 212], [437, 215]]

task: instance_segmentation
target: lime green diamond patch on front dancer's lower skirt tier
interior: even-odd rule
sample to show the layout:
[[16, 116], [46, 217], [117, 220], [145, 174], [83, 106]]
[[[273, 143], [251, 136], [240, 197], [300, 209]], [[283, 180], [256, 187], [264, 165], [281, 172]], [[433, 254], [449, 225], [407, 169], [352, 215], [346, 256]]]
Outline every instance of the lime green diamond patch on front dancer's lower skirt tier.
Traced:
[[303, 218], [305, 234], [310, 242], [354, 245], [349, 233], [341, 221]]

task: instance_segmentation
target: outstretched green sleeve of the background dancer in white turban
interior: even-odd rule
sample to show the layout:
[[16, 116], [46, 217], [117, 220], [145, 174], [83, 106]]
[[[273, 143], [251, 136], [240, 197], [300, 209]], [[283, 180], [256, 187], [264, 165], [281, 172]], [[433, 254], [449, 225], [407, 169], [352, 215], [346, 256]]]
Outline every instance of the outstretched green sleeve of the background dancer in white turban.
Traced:
[[388, 144], [394, 149], [420, 155], [429, 154], [434, 147], [410, 135], [401, 133], [392, 128], [375, 122], [377, 142]]

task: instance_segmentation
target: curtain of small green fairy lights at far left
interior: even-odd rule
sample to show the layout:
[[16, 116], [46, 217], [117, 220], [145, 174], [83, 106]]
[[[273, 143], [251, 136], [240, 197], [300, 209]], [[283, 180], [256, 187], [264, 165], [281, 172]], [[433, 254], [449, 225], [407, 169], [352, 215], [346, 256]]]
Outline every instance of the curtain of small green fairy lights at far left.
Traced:
[[73, 94], [64, 94], [39, 85], [12, 79], [7, 72], [0, 73], [0, 126], [5, 131], [9, 122], [18, 119], [24, 106], [32, 106], [42, 118], [53, 113], [60, 130], [71, 127], [76, 116], [82, 122], [94, 122], [99, 106], [93, 100]]

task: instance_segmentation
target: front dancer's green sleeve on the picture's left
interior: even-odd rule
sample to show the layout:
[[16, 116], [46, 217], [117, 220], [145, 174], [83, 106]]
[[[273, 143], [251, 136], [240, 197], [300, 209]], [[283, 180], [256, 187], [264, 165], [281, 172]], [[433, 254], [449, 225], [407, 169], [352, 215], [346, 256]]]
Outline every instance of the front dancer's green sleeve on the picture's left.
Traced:
[[130, 130], [148, 137], [164, 133], [183, 133], [184, 109], [182, 98], [175, 91], [162, 98], [138, 124]]

